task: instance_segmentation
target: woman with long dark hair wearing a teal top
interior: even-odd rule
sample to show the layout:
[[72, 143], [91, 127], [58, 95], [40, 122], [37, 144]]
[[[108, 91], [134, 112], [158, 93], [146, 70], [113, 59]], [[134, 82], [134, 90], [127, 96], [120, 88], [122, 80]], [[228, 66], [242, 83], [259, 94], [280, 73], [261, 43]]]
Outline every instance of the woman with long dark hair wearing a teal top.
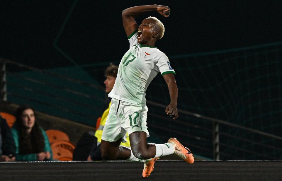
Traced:
[[45, 131], [35, 121], [31, 107], [20, 106], [12, 128], [16, 144], [16, 161], [52, 160], [52, 151]]

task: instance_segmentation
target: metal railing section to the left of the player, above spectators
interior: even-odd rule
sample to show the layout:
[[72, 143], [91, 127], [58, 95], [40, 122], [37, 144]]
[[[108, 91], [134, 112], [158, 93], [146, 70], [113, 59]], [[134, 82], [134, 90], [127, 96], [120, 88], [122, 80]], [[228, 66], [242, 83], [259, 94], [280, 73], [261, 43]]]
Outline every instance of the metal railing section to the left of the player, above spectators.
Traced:
[[[24, 71], [8, 71], [7, 64]], [[0, 59], [0, 65], [1, 101], [29, 104], [38, 111], [90, 125], [95, 125], [97, 117], [103, 112], [101, 105], [105, 101], [105, 93], [98, 84], [6, 59]], [[8, 83], [7, 77], [10, 80]], [[95, 93], [91, 94], [92, 91]]]

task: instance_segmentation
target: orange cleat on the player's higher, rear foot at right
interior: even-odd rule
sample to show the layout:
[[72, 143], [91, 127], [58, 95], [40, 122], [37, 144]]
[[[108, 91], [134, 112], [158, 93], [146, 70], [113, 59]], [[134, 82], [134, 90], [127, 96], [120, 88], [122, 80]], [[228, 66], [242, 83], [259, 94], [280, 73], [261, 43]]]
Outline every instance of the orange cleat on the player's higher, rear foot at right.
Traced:
[[175, 151], [174, 154], [185, 160], [187, 163], [194, 163], [194, 156], [189, 150], [189, 148], [186, 148], [182, 144], [179, 143], [179, 141], [176, 138], [171, 138], [167, 141], [168, 143], [174, 143], [175, 144]]

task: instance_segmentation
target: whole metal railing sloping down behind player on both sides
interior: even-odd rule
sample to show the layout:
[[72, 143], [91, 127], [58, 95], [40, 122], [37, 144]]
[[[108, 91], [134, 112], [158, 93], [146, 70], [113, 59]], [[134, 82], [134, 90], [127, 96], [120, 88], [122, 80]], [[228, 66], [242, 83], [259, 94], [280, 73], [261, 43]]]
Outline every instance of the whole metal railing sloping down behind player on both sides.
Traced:
[[[59, 83], [54, 83], [45, 79], [36, 78], [36, 76], [32, 77], [28, 76], [27, 74], [12, 73], [6, 70], [6, 64], [19, 66], [31, 72], [51, 76], [53, 78], [60, 79], [60, 81]], [[56, 110], [55, 112], [58, 112], [60, 110], [63, 112], [67, 112], [68, 114], [71, 113], [71, 117], [75, 117], [73, 115], [77, 115], [82, 119], [89, 119], [94, 122], [98, 116], [95, 116], [95, 114], [90, 114], [91, 110], [95, 110], [97, 112], [97, 115], [99, 116], [103, 111], [102, 107], [99, 105], [103, 104], [104, 99], [101, 98], [101, 96], [95, 96], [95, 93], [101, 90], [103, 92], [104, 89], [101, 86], [98, 86], [97, 84], [92, 84], [78, 79], [69, 78], [67, 76], [56, 74], [51, 71], [36, 69], [34, 67], [19, 64], [17, 62], [9, 61], [6, 59], [0, 59], [0, 66], [2, 101], [7, 101], [8, 95], [8, 101], [10, 101], [9, 97], [14, 97], [32, 102], [36, 105], [43, 105], [42, 110], [40, 110], [42, 112], [44, 112], [43, 109], [47, 106], [49, 107], [49, 110]], [[7, 76], [21, 81], [7, 82]], [[26, 81], [26, 84], [23, 84], [23, 81]], [[93, 94], [75, 90], [61, 83], [62, 81], [69, 82], [70, 84], [77, 86], [93, 88]], [[32, 86], [28, 86], [29, 84], [34, 84], [35, 87], [33, 88]], [[10, 91], [9, 89], [7, 89], [7, 85], [13, 90], [21, 89], [25, 90], [25, 92], [30, 92], [33, 96], [29, 96], [27, 94], [20, 94], [19, 92], [21, 91]], [[36, 88], [40, 86], [51, 88], [53, 91]], [[63, 92], [63, 94], [57, 94], [56, 92]], [[58, 102], [65, 102], [67, 106], [58, 104], [58, 102], [48, 102], [46, 100], [41, 100], [40, 97], [37, 95], [44, 95]], [[83, 98], [90, 100], [90, 102], [85, 102], [85, 99]], [[98, 105], [91, 104], [94, 102], [98, 102]], [[75, 105], [75, 107], [70, 108], [68, 107], [69, 104]], [[152, 107], [152, 110], [164, 110], [166, 107], [166, 105], [155, 103], [152, 101], [147, 101], [147, 105], [148, 107]], [[79, 109], [87, 109], [87, 111], [80, 111]], [[45, 112], [52, 115], [52, 112], [48, 112], [48, 110], [46, 110]], [[194, 150], [197, 150], [199, 153], [207, 153], [204, 155], [204, 157], [213, 158], [214, 160], [219, 160], [222, 157], [224, 159], [242, 159], [242, 157], [238, 155], [238, 152], [240, 154], [242, 153], [243, 155], [254, 155], [254, 158], [271, 160], [281, 159], [281, 157], [275, 156], [278, 153], [281, 153], [282, 151], [280, 145], [277, 146], [277, 144], [275, 144], [276, 142], [280, 142], [282, 140], [282, 137], [280, 136], [268, 134], [248, 127], [243, 127], [238, 124], [233, 124], [231, 122], [226, 122], [220, 119], [195, 114], [186, 110], [178, 110], [178, 112], [181, 116], [179, 116], [179, 119], [176, 120], [171, 119], [170, 117], [162, 116], [161, 114], [158, 114], [158, 111], [148, 112], [148, 118], [154, 119], [155, 121], [151, 122], [150, 120], [148, 120], [147, 124], [151, 129], [157, 130], [156, 132], [158, 133], [155, 134], [156, 137], [164, 140], [167, 139], [167, 134], [177, 135], [178, 137], [180, 137], [181, 142], [184, 145], [189, 145], [189, 147], [193, 148]], [[69, 119], [69, 117], [65, 118]], [[70, 120], [78, 121], [75, 118]], [[162, 124], [159, 124], [158, 122], [161, 122]], [[164, 126], [164, 122], [169, 126]], [[231, 132], [226, 132], [226, 130], [231, 130]], [[235, 132], [239, 132], [240, 130], [244, 132], [244, 135], [232, 134]], [[162, 134], [163, 132], [166, 132], [167, 134], [164, 135]], [[262, 138], [261, 141], [256, 140], [256, 135], [259, 135], [259, 137]], [[228, 141], [228, 139], [231, 141]], [[241, 143], [244, 143], [245, 146], [241, 146]], [[251, 145], [252, 148], [257, 148], [259, 149], [259, 151], [248, 148], [246, 145]], [[234, 150], [235, 154], [229, 153], [225, 151], [226, 149], [223, 148]], [[272, 152], [275, 153], [272, 154]]]

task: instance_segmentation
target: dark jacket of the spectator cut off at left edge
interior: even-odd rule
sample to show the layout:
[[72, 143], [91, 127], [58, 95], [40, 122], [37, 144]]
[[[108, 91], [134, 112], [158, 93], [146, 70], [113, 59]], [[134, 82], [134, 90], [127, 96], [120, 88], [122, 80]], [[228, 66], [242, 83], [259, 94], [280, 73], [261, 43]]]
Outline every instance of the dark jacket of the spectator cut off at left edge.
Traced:
[[10, 154], [16, 156], [16, 145], [10, 127], [6, 119], [0, 116], [0, 130], [2, 137], [2, 155], [9, 156]]

